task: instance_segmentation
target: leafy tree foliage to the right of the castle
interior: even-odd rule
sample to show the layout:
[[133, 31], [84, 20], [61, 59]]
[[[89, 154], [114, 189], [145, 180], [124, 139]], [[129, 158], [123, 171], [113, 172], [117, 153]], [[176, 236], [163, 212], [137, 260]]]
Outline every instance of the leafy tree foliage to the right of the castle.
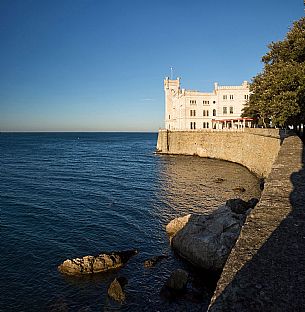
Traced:
[[268, 126], [305, 122], [305, 18], [293, 23], [283, 41], [272, 42], [253, 78], [243, 116]]

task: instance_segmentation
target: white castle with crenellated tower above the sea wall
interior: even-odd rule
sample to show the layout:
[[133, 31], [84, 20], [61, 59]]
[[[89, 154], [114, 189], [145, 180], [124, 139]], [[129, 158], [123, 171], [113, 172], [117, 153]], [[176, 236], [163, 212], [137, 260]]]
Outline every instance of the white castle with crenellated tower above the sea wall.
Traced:
[[249, 99], [249, 84], [219, 86], [211, 93], [180, 88], [180, 78], [164, 79], [165, 129], [242, 129], [251, 127], [251, 118], [242, 118]]

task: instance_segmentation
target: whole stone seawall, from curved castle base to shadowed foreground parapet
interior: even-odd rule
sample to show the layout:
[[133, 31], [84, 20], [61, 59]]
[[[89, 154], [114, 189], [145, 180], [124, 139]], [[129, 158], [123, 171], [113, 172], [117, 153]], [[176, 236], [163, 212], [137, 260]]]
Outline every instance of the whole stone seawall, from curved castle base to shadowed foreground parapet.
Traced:
[[160, 131], [157, 148], [240, 163], [268, 177], [226, 261], [209, 312], [304, 311], [305, 151], [279, 132]]

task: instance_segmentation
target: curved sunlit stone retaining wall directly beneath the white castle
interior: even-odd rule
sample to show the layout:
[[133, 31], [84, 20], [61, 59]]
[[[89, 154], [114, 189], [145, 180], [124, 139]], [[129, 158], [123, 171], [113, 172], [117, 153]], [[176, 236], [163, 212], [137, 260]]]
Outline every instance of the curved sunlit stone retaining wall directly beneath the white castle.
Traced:
[[281, 145], [276, 129], [244, 131], [159, 130], [157, 151], [162, 154], [198, 155], [239, 163], [267, 177]]

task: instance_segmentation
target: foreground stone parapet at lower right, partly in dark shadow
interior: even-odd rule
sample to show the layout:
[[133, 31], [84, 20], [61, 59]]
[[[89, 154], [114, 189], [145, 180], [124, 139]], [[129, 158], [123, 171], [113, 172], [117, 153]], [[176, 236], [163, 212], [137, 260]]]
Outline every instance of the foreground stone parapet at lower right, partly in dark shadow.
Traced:
[[228, 259], [210, 312], [305, 309], [305, 152], [297, 137], [287, 140], [271, 187]]

